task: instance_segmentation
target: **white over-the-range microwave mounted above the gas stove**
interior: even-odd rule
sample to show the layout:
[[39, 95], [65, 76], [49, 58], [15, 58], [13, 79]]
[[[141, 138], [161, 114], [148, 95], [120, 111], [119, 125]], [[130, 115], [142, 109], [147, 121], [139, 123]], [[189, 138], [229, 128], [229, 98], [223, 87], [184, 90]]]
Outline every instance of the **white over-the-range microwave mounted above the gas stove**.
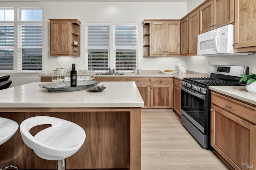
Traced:
[[198, 35], [197, 55], [248, 55], [234, 53], [234, 25], [225, 25]]

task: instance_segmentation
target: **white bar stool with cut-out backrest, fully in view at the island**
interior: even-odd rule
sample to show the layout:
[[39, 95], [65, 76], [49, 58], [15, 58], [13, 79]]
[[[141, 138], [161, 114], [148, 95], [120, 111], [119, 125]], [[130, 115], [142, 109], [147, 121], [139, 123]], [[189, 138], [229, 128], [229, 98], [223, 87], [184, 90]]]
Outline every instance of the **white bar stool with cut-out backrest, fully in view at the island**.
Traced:
[[[50, 124], [34, 137], [29, 130], [37, 125]], [[30, 117], [20, 124], [20, 133], [24, 143], [34, 150], [40, 158], [57, 160], [58, 170], [65, 170], [65, 158], [72, 156], [83, 145], [86, 134], [77, 124], [49, 116]]]

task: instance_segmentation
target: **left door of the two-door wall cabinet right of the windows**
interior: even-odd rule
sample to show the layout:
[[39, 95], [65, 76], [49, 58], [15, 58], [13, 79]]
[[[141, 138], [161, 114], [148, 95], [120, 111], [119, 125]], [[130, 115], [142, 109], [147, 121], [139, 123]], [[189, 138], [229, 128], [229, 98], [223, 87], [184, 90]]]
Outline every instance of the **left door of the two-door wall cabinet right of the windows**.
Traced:
[[166, 45], [166, 23], [152, 22], [150, 33], [150, 54], [164, 55]]

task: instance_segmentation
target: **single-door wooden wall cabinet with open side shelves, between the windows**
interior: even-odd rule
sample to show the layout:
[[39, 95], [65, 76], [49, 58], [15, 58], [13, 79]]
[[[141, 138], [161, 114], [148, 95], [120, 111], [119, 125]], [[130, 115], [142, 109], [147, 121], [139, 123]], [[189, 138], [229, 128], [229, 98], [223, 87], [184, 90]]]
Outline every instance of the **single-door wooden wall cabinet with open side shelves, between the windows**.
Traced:
[[[50, 20], [50, 55], [80, 56], [80, 24], [77, 19]], [[75, 45], [73, 42], [77, 41]]]

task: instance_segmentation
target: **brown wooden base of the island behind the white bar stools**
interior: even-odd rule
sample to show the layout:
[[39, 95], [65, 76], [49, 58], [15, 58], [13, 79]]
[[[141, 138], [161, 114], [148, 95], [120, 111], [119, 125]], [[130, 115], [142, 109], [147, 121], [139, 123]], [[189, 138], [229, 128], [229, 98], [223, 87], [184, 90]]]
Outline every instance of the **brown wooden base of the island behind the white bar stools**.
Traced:
[[[42, 110], [45, 111], [45, 109]], [[52, 111], [52, 109], [48, 110]], [[76, 154], [66, 159], [67, 168], [140, 170], [140, 108], [108, 108], [98, 109], [99, 111], [88, 109], [88, 112], [63, 112], [63, 108], [61, 110], [62, 112], [58, 112], [58, 109], [54, 108], [53, 112], [40, 112], [39, 109], [34, 112], [32, 109], [32, 112], [20, 113], [9, 110], [9, 113], [0, 113], [0, 116], [13, 119], [19, 125], [24, 119], [37, 115], [59, 117], [80, 125], [86, 131], [86, 140]], [[106, 111], [104, 112], [104, 110]], [[7, 152], [8, 154], [6, 154]], [[56, 161], [39, 158], [32, 149], [23, 143], [19, 129], [14, 137], [0, 146], [0, 166], [4, 167], [7, 164], [16, 164], [20, 168], [32, 169], [56, 168]]]

